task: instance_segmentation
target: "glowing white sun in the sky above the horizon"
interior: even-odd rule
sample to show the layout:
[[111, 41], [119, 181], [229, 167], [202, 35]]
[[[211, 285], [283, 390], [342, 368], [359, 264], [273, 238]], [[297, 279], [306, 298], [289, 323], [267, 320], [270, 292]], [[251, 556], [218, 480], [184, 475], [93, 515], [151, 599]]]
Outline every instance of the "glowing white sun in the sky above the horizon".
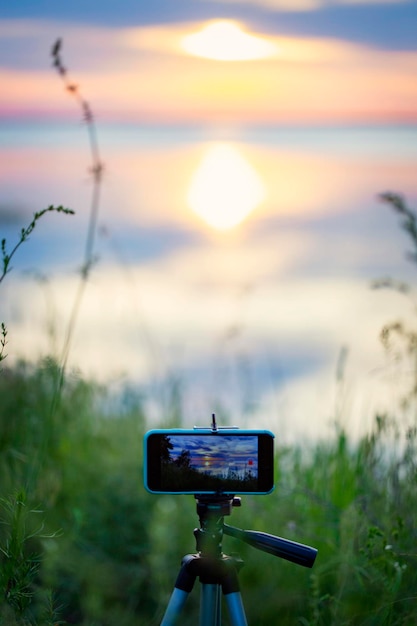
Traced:
[[275, 44], [245, 33], [231, 20], [209, 22], [199, 32], [183, 37], [181, 46], [189, 54], [216, 61], [250, 61], [276, 52]]

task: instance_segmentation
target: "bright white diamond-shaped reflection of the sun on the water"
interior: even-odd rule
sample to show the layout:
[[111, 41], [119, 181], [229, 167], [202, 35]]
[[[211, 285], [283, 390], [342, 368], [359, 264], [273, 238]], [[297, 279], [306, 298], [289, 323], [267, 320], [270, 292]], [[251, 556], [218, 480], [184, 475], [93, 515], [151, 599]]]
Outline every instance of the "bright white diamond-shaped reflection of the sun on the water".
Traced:
[[215, 143], [194, 173], [187, 201], [206, 224], [227, 231], [243, 222], [264, 198], [261, 178], [238, 149]]

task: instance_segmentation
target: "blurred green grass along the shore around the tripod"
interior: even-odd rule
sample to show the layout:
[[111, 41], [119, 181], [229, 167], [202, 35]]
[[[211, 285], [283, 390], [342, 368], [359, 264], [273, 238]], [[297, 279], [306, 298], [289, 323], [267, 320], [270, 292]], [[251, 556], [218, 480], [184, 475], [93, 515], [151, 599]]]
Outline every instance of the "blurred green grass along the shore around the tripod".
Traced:
[[[50, 360], [0, 375], [0, 624], [159, 624], [195, 551], [194, 498], [144, 490], [139, 395], [112, 415], [106, 390], [68, 375], [51, 411], [58, 375]], [[308, 448], [278, 442], [275, 491], [226, 521], [319, 554], [306, 570], [225, 537], [245, 561], [249, 624], [417, 623], [416, 443], [387, 416], [355, 444], [337, 429]], [[198, 602], [196, 585], [182, 624]]]

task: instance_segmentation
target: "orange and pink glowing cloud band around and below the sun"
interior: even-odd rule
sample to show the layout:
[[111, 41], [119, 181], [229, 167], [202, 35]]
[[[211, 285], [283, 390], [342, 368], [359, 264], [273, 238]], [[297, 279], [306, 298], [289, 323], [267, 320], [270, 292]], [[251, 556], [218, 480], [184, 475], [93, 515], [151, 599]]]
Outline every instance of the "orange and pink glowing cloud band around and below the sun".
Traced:
[[[181, 50], [181, 37], [196, 27], [115, 30], [107, 40], [106, 33], [95, 33], [94, 58], [87, 54], [91, 42], [82, 29], [77, 47], [68, 44], [71, 73], [102, 118], [210, 123], [417, 119], [416, 52], [277, 36], [268, 39], [276, 50], [273, 58], [225, 63]], [[3, 116], [74, 111], [52, 68], [3, 69], [0, 89]]]

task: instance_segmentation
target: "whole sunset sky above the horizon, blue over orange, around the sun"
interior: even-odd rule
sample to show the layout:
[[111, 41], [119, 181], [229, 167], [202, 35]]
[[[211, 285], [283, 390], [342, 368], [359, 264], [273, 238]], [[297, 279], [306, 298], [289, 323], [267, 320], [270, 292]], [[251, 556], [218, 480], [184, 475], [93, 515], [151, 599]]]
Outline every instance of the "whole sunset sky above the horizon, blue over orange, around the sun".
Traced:
[[[88, 85], [101, 119], [414, 121], [416, 14], [416, 3], [406, 0], [165, 0], [100, 9], [84, 2], [9, 3], [0, 10], [0, 114], [69, 114], [47, 57], [62, 37], [75, 80]], [[201, 37], [220, 19], [268, 43], [268, 54], [222, 62], [184, 48], [186, 37]], [[210, 53], [233, 44], [230, 33], [222, 37], [212, 35]]]

